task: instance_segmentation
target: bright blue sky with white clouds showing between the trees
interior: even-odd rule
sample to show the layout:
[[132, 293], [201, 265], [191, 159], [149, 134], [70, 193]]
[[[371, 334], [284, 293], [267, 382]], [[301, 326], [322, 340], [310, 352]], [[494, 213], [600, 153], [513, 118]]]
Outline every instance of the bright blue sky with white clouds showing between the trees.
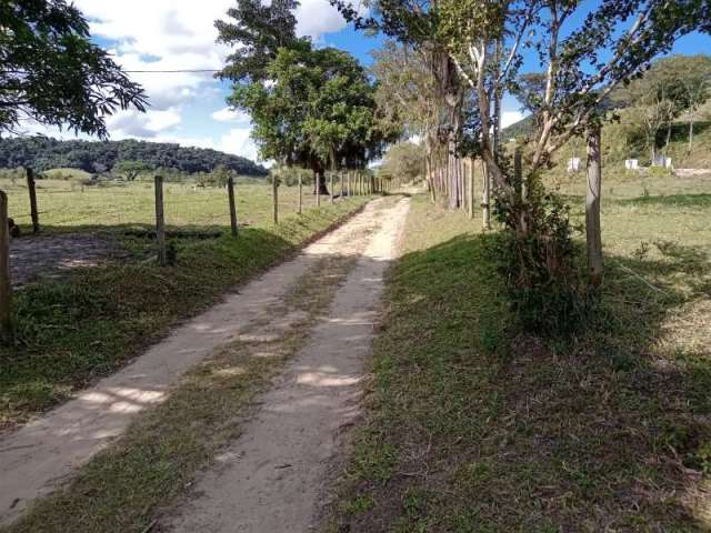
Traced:
[[[597, 0], [585, 0], [593, 7]], [[110, 50], [126, 70], [219, 69], [228, 49], [214, 42], [213, 22], [223, 18], [234, 0], [74, 0], [90, 20], [94, 40]], [[370, 64], [370, 51], [382, 42], [346, 24], [328, 0], [301, 0], [297, 11], [298, 32], [319, 46], [332, 46], [353, 53]], [[574, 26], [579, 21], [571, 21]], [[711, 53], [709, 36], [688, 36], [673, 53]], [[527, 70], [538, 70], [527, 54]], [[147, 90], [151, 108], [144, 113], [121, 112], [108, 121], [112, 139], [146, 139], [214, 148], [257, 158], [249, 134], [249, 117], [231, 112], [224, 99], [227, 83], [210, 74], [131, 74]], [[504, 100], [504, 122], [521, 114], [512, 98]], [[56, 130], [34, 128], [54, 137], [71, 137]]]

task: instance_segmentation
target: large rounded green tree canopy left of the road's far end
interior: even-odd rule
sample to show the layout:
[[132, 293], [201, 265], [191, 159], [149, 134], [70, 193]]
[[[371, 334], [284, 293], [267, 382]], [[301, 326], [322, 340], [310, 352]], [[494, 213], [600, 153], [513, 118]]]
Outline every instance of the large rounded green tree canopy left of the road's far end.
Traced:
[[294, 37], [296, 6], [240, 0], [228, 12], [236, 22], [218, 22], [220, 40], [236, 49], [222, 73], [234, 82], [228, 102], [249, 112], [263, 159], [318, 173], [363, 167], [400, 127], [379, 112], [375, 84], [356, 58]]

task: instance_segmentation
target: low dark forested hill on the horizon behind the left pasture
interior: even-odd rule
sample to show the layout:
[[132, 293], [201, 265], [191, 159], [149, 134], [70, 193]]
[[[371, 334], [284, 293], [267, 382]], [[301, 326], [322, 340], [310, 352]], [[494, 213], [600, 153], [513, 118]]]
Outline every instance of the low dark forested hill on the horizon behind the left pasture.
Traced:
[[38, 171], [70, 168], [94, 173], [109, 171], [119, 161], [140, 161], [156, 169], [190, 173], [210, 172], [223, 165], [240, 174], [267, 174], [261, 164], [246, 158], [166, 142], [58, 141], [38, 137], [0, 139], [0, 168], [32, 167]]

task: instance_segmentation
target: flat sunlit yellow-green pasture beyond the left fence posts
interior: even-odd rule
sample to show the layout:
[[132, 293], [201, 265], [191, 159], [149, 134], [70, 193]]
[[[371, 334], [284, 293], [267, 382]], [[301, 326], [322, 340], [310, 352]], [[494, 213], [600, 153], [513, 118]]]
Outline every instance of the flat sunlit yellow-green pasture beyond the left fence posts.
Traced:
[[[263, 180], [240, 179], [236, 184], [238, 220], [241, 224], [263, 225], [272, 220], [271, 185]], [[9, 212], [20, 227], [29, 228], [30, 208], [24, 180], [0, 180], [8, 193]], [[337, 187], [337, 191], [340, 191]], [[282, 215], [297, 211], [298, 187], [279, 188]], [[40, 223], [50, 231], [77, 228], [111, 229], [154, 224], [154, 192], [150, 181], [100, 182], [82, 185], [80, 180], [38, 180]], [[163, 184], [166, 223], [174, 228], [229, 227], [227, 189], [198, 188], [190, 183]], [[328, 203], [328, 197], [321, 197]], [[303, 188], [303, 207], [314, 204], [309, 187]]]

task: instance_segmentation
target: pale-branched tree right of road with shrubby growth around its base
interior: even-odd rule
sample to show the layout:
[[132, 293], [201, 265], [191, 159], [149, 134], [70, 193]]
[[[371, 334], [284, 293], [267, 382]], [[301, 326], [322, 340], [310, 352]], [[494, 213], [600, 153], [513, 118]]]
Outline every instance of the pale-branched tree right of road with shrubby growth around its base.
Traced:
[[[555, 279], [563, 280], [559, 286], [565, 291], [574, 286], [569, 283], [573, 247], [565, 209], [543, 191], [540, 171], [571, 138], [603, 120], [604, 103], [620, 83], [641, 77], [678, 38], [711, 27], [708, 0], [374, 0], [368, 18], [348, 0], [331, 3], [358, 28], [445, 52], [447, 61], [433, 76], [448, 88], [442, 113], [460, 115], [450, 121], [449, 151], [465, 140], [481, 154], [495, 183], [499, 219], [511, 235], [508, 279], [518, 285], [512, 294], [528, 302], [551, 296], [544, 291], [557, 285]], [[535, 102], [525, 174], [519, 179], [498, 150], [498, 113], [502, 88], [513, 86], [527, 52], [543, 67], [544, 90]], [[464, 92], [450, 89], [459, 83], [472, 92], [474, 109], [458, 107], [454, 95]], [[458, 125], [465, 112], [471, 120], [463, 135]], [[535, 291], [542, 291], [541, 299], [529, 298]]]

